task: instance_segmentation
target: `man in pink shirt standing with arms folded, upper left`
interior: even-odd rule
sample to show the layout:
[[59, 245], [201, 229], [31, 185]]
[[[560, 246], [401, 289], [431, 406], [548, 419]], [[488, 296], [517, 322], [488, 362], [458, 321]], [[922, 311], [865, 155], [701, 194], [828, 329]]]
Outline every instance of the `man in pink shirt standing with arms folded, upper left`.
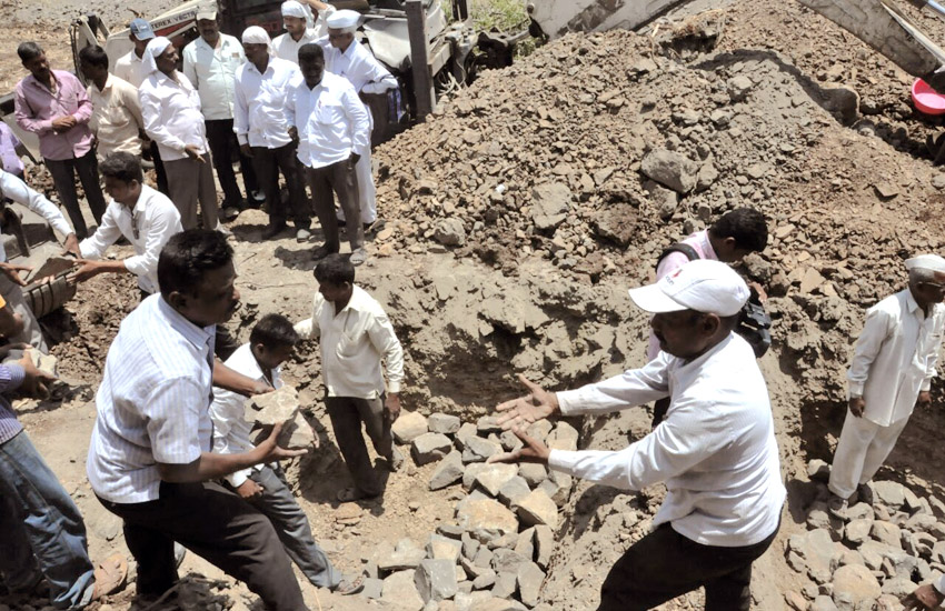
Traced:
[[88, 126], [92, 103], [82, 82], [72, 73], [49, 68], [46, 53], [36, 42], [21, 43], [17, 54], [23, 68], [30, 71], [29, 77], [17, 83], [17, 124], [39, 136], [39, 152], [69, 212], [76, 236], [86, 238], [88, 228], [79, 208], [76, 172], [97, 223], [101, 222], [106, 209], [92, 150], [93, 137]]

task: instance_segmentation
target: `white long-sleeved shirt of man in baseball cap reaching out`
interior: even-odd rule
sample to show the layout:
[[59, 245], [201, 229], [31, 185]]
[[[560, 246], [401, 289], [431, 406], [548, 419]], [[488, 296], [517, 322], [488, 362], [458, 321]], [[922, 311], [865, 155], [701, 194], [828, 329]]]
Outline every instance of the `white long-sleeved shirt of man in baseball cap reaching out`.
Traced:
[[666, 419], [618, 452], [551, 450], [549, 467], [625, 490], [665, 481], [653, 525], [704, 545], [750, 545], [778, 525], [782, 483], [768, 391], [735, 333], [690, 361], [666, 352], [643, 369], [557, 393], [561, 413], [604, 413], [670, 397]]

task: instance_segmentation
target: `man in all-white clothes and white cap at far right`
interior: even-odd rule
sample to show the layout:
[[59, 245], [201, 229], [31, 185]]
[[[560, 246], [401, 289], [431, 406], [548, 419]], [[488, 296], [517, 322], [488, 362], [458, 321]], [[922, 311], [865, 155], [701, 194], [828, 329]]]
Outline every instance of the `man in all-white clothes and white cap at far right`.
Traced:
[[830, 512], [846, 518], [854, 492], [893, 451], [916, 403], [929, 405], [942, 333], [945, 331], [945, 259], [922, 254], [906, 261], [909, 284], [866, 312], [847, 371], [848, 401], [830, 469]]

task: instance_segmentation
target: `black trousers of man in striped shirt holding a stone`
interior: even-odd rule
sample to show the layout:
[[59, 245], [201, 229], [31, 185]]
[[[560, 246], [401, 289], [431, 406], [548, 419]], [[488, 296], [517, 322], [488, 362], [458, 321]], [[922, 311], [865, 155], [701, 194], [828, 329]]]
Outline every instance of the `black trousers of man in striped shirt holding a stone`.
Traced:
[[177, 583], [177, 541], [245, 582], [272, 611], [307, 611], [272, 523], [215, 482], [161, 482], [143, 503], [99, 501], [125, 522], [125, 542], [138, 561], [138, 593], [160, 595]]

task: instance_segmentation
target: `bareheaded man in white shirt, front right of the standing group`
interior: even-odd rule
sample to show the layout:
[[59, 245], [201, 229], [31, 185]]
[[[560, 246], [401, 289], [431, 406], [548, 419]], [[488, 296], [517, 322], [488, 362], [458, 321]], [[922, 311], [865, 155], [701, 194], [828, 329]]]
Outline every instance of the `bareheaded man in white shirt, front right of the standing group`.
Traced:
[[315, 213], [325, 243], [312, 252], [316, 260], [340, 250], [335, 198], [348, 219], [351, 263], [367, 260], [365, 230], [358, 208], [356, 152], [370, 146], [370, 119], [355, 88], [342, 77], [325, 70], [325, 52], [318, 44], [299, 50], [304, 81], [289, 94], [286, 114], [292, 139], [298, 139], [298, 159], [306, 167]]

